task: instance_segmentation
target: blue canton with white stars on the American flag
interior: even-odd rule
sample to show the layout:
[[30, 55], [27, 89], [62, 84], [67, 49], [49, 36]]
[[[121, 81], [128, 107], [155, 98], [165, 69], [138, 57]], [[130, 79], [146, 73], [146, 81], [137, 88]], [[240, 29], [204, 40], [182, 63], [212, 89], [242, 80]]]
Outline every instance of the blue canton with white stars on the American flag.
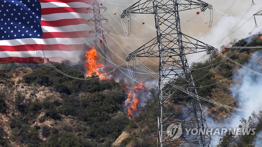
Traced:
[[1, 0], [0, 20], [0, 40], [43, 36], [39, 1]]

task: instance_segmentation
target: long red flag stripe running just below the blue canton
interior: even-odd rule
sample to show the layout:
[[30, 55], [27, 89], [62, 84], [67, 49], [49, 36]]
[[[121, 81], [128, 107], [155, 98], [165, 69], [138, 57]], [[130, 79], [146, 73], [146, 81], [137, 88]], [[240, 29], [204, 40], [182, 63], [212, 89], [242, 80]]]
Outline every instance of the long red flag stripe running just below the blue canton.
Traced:
[[77, 51], [86, 50], [85, 44], [25, 44], [19, 46], [0, 46], [0, 51], [11, 51], [11, 52], [21, 52], [21, 51], [34, 51], [34, 50], [62, 50], [62, 51]]

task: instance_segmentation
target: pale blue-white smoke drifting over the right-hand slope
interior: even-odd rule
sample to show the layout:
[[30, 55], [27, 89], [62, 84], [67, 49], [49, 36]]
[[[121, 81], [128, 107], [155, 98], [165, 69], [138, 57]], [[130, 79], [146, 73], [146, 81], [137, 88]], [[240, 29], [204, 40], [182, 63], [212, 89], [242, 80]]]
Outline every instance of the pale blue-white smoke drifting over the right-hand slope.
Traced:
[[[250, 69], [257, 72], [262, 72], [262, 51], [254, 53], [249, 62], [245, 65]], [[259, 60], [258, 60], [259, 59]], [[240, 72], [237, 76], [233, 78], [232, 88], [230, 89], [233, 97], [238, 101], [239, 109], [259, 112], [261, 110], [262, 104], [262, 77], [248, 71], [246, 69], [240, 68], [233, 74]], [[225, 104], [227, 105], [227, 104]], [[204, 109], [204, 113], [207, 114], [207, 110]], [[241, 118], [247, 119], [251, 116], [250, 113], [236, 111], [232, 114], [231, 120], [227, 120], [223, 123], [217, 123], [212, 118], [205, 116], [209, 128], [238, 128], [240, 125]], [[214, 145], [217, 145], [220, 137], [222, 135], [212, 135], [212, 140]], [[260, 141], [261, 142], [261, 141]], [[259, 144], [260, 145], [260, 144]]]

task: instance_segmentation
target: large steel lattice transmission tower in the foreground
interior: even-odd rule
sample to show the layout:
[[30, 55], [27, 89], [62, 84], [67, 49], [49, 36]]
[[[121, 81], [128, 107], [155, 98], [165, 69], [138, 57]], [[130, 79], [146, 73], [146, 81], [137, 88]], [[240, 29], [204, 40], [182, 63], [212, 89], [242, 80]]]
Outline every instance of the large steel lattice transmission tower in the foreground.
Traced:
[[[179, 18], [181, 11], [196, 8], [203, 12], [206, 9], [212, 10], [212, 5], [200, 0], [140, 0], [121, 15], [122, 19], [127, 16], [128, 20], [135, 13], [154, 15], [157, 36], [130, 53], [126, 61], [136, 60], [135, 57], [159, 58], [157, 144], [161, 147], [213, 146], [210, 134], [204, 132], [207, 129], [206, 120], [186, 55], [198, 52], [211, 54], [217, 49], [182, 33]], [[167, 130], [170, 125], [174, 127]], [[181, 137], [172, 136], [174, 130], [179, 130], [179, 126]], [[197, 129], [202, 133], [189, 132], [187, 135], [186, 129]]]

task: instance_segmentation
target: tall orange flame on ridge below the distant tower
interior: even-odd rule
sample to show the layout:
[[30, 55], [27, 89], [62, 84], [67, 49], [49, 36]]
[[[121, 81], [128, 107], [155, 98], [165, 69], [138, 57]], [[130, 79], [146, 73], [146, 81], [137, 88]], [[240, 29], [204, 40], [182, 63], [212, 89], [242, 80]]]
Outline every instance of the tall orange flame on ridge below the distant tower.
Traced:
[[103, 71], [103, 68], [105, 66], [101, 63], [96, 62], [97, 53], [95, 47], [88, 49], [85, 52], [85, 57], [86, 57], [85, 68], [87, 72], [86, 74], [87, 77], [92, 76], [92, 73], [96, 73], [97, 75], [100, 76], [100, 80], [107, 78], [106, 76], [102, 76], [105, 73], [105, 71]]

